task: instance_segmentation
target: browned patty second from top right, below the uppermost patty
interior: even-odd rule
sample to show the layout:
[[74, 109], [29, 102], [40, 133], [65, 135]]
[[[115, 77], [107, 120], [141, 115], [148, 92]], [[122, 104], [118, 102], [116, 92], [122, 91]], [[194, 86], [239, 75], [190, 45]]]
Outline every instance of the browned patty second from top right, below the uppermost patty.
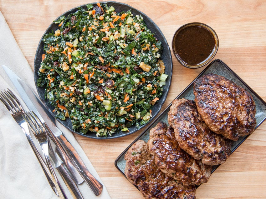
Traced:
[[179, 146], [203, 164], [222, 164], [230, 156], [230, 142], [210, 131], [194, 101], [174, 100], [168, 112], [168, 123], [174, 129]]

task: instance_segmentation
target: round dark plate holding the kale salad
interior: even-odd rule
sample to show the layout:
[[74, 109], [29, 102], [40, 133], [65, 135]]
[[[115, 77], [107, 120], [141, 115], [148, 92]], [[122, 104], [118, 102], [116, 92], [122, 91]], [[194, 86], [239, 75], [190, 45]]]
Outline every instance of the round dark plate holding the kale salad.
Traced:
[[[144, 22], [146, 23], [147, 27], [151, 30], [151, 32], [154, 33], [154, 36], [162, 41], [162, 46], [163, 46], [163, 52], [162, 52], [162, 60], [165, 64], [165, 73], [168, 75], [167, 79], [166, 79], [166, 85], [164, 86], [165, 90], [162, 93], [162, 96], [160, 98], [160, 100], [152, 107], [152, 113], [153, 116], [150, 119], [150, 121], [152, 121], [156, 115], [160, 112], [161, 107], [163, 105], [163, 103], [166, 100], [168, 91], [169, 91], [169, 87], [171, 84], [171, 79], [172, 79], [172, 68], [173, 68], [173, 63], [172, 63], [172, 56], [171, 56], [171, 51], [170, 48], [168, 46], [168, 43], [166, 41], [166, 38], [164, 37], [163, 33], [161, 32], [160, 28], [151, 20], [151, 18], [149, 18], [146, 14], [144, 14], [143, 12], [135, 9], [134, 7], [131, 7], [125, 3], [119, 3], [119, 2], [113, 2], [113, 1], [106, 1], [106, 2], [102, 2], [104, 4], [107, 4], [108, 6], [113, 6], [115, 8], [116, 12], [121, 12], [121, 11], [128, 11], [131, 10], [132, 14], [134, 15], [141, 15], [143, 17]], [[91, 3], [93, 5], [96, 6], [96, 2], [95, 3]], [[86, 7], [86, 5], [81, 5], [79, 7]], [[71, 10], [65, 12], [64, 16], [68, 16], [70, 13], [74, 13], [78, 10], [78, 7], [74, 7]], [[61, 15], [61, 16], [62, 16]], [[60, 17], [60, 16], [59, 16]], [[57, 19], [59, 19], [59, 17]], [[56, 19], [56, 20], [57, 20]], [[58, 25], [55, 23], [52, 23], [47, 30], [44, 32], [43, 36], [51, 31], [55, 31], [57, 29]], [[43, 42], [42, 42], [43, 37], [41, 38], [38, 47], [37, 47], [37, 51], [36, 51], [36, 55], [34, 58], [34, 80], [35, 80], [35, 85], [38, 79], [38, 70], [40, 67], [40, 63], [42, 62], [42, 54], [43, 54]], [[37, 87], [37, 85], [36, 85]], [[45, 103], [46, 108], [49, 110], [49, 112], [54, 115], [54, 112], [52, 112], [52, 110], [54, 110], [54, 107], [52, 107], [49, 104], [48, 100], [44, 100], [44, 88], [43, 87], [37, 87], [37, 91], [38, 91], [38, 95], [41, 98], [41, 100]], [[74, 133], [78, 133], [79, 135], [85, 136], [85, 137], [90, 137], [90, 138], [95, 138], [95, 139], [110, 139], [110, 138], [117, 138], [117, 137], [123, 137], [129, 134], [132, 134], [136, 131], [138, 131], [137, 127], [132, 126], [129, 128], [129, 132], [119, 132], [119, 133], [115, 133], [112, 136], [108, 136], [108, 137], [96, 137], [95, 133], [93, 132], [88, 132], [87, 134], [82, 134], [80, 132], [76, 132], [72, 129], [72, 123], [70, 121], [69, 118], [67, 118], [65, 121], [62, 121], [60, 119], [57, 119], [62, 125], [64, 125], [66, 128], [68, 128], [70, 131], [74, 132]], [[147, 124], [149, 124], [150, 122], [144, 124], [141, 126], [145, 127]]]

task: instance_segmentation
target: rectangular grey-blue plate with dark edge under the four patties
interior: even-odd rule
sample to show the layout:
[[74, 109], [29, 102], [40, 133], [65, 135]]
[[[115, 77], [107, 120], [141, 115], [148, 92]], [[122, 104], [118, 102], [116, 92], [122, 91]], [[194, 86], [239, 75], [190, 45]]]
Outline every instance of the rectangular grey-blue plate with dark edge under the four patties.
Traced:
[[[229, 80], [232, 80], [235, 82], [238, 86], [241, 86], [244, 88], [246, 91], [248, 91], [252, 97], [253, 100], [256, 104], [256, 128], [266, 119], [266, 102], [263, 101], [261, 97], [258, 96], [257, 93], [255, 93], [240, 77], [237, 76], [223, 61], [216, 59], [213, 62], [211, 62], [202, 72], [199, 74], [199, 77], [201, 77], [203, 74], [208, 74], [208, 73], [214, 73], [217, 75], [224, 76], [228, 78]], [[196, 78], [196, 79], [197, 79]], [[196, 80], [195, 79], [195, 80]], [[194, 80], [194, 81], [195, 81]], [[194, 82], [193, 81], [193, 82]], [[176, 97], [176, 99], [180, 98], [186, 98], [190, 100], [194, 100], [195, 96], [193, 94], [193, 82], [191, 82], [188, 87], [180, 93]], [[128, 146], [123, 153], [120, 154], [120, 156], [115, 160], [115, 167], [125, 176], [125, 153], [127, 150], [131, 147], [133, 143], [135, 143], [138, 140], [144, 140], [147, 142], [149, 140], [149, 135], [150, 135], [150, 129], [155, 127], [158, 122], [165, 122], [167, 125], [167, 113], [170, 110], [171, 104]], [[248, 135], [249, 136], [249, 135]], [[239, 147], [242, 142], [244, 142], [245, 139], [247, 139], [248, 136], [240, 137], [238, 141], [232, 141], [232, 153]], [[230, 158], [230, 157], [229, 157]], [[213, 166], [212, 167], [212, 172], [214, 172], [219, 165]]]

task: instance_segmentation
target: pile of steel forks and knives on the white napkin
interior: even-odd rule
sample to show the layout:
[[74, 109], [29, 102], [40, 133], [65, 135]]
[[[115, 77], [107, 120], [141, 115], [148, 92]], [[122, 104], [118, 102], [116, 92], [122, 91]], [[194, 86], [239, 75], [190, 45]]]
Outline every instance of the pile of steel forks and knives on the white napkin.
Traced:
[[0, 100], [27, 137], [55, 194], [67, 198], [60, 184], [64, 182], [73, 198], [83, 198], [79, 185], [85, 181], [99, 196], [102, 184], [91, 175], [74, 147], [57, 128], [54, 116], [25, 82], [8, 67], [3, 65], [3, 68], [27, 107], [22, 107], [10, 89], [1, 91]]

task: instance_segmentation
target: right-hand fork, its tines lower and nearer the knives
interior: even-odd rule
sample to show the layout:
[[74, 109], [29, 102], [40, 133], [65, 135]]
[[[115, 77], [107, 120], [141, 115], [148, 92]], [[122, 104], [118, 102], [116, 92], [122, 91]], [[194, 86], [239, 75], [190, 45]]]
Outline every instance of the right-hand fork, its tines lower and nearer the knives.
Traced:
[[37, 115], [32, 112], [33, 115], [31, 113], [25, 113], [25, 119], [26, 122], [28, 123], [28, 127], [31, 129], [31, 131], [34, 133], [36, 139], [38, 140], [40, 147], [42, 149], [46, 164], [48, 166], [48, 169], [50, 171], [50, 173], [52, 174], [52, 179], [54, 181], [55, 187], [59, 193], [59, 197], [60, 198], [67, 198], [61, 185], [60, 182], [58, 180], [58, 178], [56, 177], [56, 174], [54, 172], [54, 168], [52, 167], [50, 158], [49, 158], [49, 139], [48, 139], [48, 135], [46, 133], [46, 130], [44, 128], [43, 125], [41, 125], [40, 119], [37, 117]]

